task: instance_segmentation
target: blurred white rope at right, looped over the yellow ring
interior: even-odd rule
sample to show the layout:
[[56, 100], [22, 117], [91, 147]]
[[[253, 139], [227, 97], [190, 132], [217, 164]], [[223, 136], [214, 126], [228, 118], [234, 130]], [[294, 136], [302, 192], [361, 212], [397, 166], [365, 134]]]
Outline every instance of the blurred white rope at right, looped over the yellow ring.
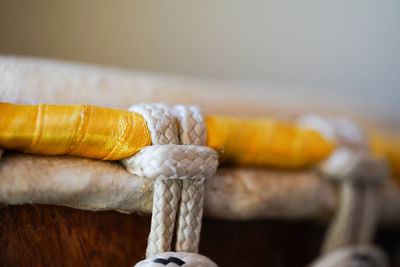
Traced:
[[326, 234], [322, 252], [371, 242], [379, 216], [377, 187], [386, 176], [385, 164], [366, 154], [367, 142], [363, 132], [348, 119], [305, 114], [298, 118], [297, 123], [339, 145], [321, 168], [324, 176], [340, 183], [340, 204]]

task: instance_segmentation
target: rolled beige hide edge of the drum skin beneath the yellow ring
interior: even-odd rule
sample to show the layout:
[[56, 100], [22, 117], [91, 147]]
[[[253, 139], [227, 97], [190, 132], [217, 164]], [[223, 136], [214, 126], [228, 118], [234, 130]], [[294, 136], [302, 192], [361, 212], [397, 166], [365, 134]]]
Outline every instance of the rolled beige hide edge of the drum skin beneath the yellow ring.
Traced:
[[[134, 176], [114, 162], [6, 152], [0, 163], [3, 204], [149, 213], [152, 193], [150, 180]], [[381, 193], [382, 222], [400, 224], [397, 185], [387, 184]], [[320, 220], [333, 215], [336, 202], [334, 186], [314, 170], [225, 167], [206, 183], [205, 215], [227, 220]]]

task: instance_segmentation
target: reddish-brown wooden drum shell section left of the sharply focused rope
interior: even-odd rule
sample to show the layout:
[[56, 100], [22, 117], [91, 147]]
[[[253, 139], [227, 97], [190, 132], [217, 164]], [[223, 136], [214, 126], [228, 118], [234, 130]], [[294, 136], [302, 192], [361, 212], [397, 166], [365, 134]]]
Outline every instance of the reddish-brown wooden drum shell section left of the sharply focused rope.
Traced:
[[150, 217], [23, 205], [0, 210], [1, 266], [133, 266]]

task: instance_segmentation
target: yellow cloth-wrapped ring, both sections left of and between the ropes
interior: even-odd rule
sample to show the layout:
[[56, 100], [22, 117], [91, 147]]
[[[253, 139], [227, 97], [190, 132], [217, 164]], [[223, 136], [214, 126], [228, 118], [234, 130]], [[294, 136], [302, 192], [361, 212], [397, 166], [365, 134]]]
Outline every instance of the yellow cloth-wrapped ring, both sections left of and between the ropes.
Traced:
[[[273, 119], [209, 116], [207, 145], [222, 162], [304, 167], [334, 144], [313, 130]], [[0, 103], [0, 147], [33, 154], [120, 160], [151, 145], [142, 116], [89, 105], [24, 106]]]

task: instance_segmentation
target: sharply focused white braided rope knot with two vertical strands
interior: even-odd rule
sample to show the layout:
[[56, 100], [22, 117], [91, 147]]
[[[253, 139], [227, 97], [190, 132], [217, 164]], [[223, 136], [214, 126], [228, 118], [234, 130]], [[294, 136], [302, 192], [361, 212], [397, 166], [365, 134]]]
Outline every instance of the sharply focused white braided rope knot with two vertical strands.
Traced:
[[[144, 117], [153, 143], [134, 156], [122, 160], [122, 164], [131, 173], [155, 179], [146, 256], [170, 250], [177, 205], [181, 197], [176, 248], [197, 252], [203, 214], [204, 180], [213, 176], [218, 166], [217, 153], [204, 146], [204, 118], [194, 106], [174, 107], [172, 112], [176, 118], [162, 104], [141, 104], [130, 110]], [[179, 141], [176, 122], [179, 123], [179, 136], [182, 138], [180, 143], [184, 145], [176, 145]]]

